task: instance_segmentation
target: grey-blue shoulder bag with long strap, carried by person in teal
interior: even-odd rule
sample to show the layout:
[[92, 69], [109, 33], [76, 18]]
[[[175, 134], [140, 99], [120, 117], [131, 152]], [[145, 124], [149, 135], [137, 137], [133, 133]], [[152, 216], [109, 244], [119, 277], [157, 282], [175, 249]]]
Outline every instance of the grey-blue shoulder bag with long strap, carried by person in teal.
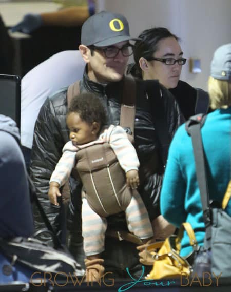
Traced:
[[203, 272], [214, 272], [216, 276], [231, 277], [231, 217], [224, 211], [231, 194], [229, 182], [222, 204], [209, 203], [208, 184], [205, 168], [204, 150], [201, 139], [201, 127], [206, 116], [192, 116], [185, 124], [192, 138], [197, 180], [200, 189], [203, 218], [205, 223], [204, 246], [196, 252], [194, 272], [203, 277]]

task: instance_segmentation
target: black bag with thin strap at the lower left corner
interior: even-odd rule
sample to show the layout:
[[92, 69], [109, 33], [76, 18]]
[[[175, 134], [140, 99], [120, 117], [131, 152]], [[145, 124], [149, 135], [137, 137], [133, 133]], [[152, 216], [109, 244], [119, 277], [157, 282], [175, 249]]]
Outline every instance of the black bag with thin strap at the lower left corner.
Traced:
[[10, 240], [0, 239], [0, 250], [11, 260], [11, 265], [5, 266], [3, 273], [7, 276], [12, 274], [12, 266], [20, 263], [34, 271], [49, 272], [52, 275], [59, 273], [59, 277], [66, 277], [65, 274], [83, 276], [82, 269], [69, 251], [61, 244], [56, 236], [40, 202], [38, 201], [33, 183], [28, 176], [31, 199], [35, 201], [38, 210], [46, 223], [47, 229], [40, 232], [49, 232], [52, 235], [54, 247], [35, 238], [17, 237]]

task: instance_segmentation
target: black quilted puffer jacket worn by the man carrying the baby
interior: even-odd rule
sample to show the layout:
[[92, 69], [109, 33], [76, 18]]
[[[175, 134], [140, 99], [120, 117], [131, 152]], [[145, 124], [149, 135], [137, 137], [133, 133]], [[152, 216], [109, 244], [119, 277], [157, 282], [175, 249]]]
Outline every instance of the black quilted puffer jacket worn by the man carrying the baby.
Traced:
[[[134, 138], [141, 164], [141, 177], [143, 177], [139, 192], [148, 209], [150, 219], [153, 219], [160, 214], [159, 194], [163, 167], [158, 160], [161, 149], [159, 149], [157, 133], [152, 121], [150, 100], [146, 96], [145, 82], [139, 80], [136, 82], [137, 102]], [[160, 94], [162, 91], [164, 116], [171, 139], [182, 121], [182, 116], [171, 93], [157, 81], [153, 81], [153, 85], [155, 85], [153, 86], [156, 90], [155, 94]], [[104, 85], [90, 81], [85, 72], [83, 80], [80, 82], [80, 91], [94, 92], [100, 96], [107, 108], [108, 124], [119, 124], [123, 80]], [[51, 173], [62, 155], [64, 144], [69, 141], [65, 122], [66, 96], [67, 88], [48, 98], [42, 106], [35, 124], [31, 157], [31, 177], [36, 187], [37, 196], [56, 230], [60, 229], [60, 207], [50, 205], [48, 189]], [[81, 228], [81, 187], [80, 182], [70, 178], [69, 229]], [[36, 210], [34, 210], [34, 217], [35, 229], [41, 229], [44, 225]]]

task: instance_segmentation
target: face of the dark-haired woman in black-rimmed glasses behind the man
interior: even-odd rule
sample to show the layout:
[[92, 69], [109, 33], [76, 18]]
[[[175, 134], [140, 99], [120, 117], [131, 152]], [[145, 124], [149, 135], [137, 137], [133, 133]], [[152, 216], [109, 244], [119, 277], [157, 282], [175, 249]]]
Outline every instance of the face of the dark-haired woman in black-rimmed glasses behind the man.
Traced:
[[[174, 37], [167, 37], [158, 44], [159, 49], [153, 54], [155, 58], [174, 58], [182, 57], [181, 47]], [[166, 88], [175, 88], [180, 79], [182, 65], [177, 62], [174, 65], [166, 65], [163, 62], [153, 60], [149, 63], [149, 79], [158, 79]]]

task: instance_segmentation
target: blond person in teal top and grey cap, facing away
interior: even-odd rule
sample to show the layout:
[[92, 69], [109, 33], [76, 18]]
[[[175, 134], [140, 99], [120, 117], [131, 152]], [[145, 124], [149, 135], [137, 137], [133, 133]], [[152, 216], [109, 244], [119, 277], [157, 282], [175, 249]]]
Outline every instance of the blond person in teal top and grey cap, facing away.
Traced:
[[[211, 62], [208, 92], [210, 106], [216, 109], [207, 115], [202, 127], [202, 141], [207, 161], [209, 197], [222, 202], [230, 180], [231, 149], [231, 43], [219, 47]], [[203, 245], [205, 226], [196, 177], [191, 137], [182, 125], [171, 142], [160, 198], [161, 214], [180, 227], [189, 222], [199, 245]], [[231, 200], [226, 212], [231, 215]], [[192, 251], [184, 234], [181, 255]]]

